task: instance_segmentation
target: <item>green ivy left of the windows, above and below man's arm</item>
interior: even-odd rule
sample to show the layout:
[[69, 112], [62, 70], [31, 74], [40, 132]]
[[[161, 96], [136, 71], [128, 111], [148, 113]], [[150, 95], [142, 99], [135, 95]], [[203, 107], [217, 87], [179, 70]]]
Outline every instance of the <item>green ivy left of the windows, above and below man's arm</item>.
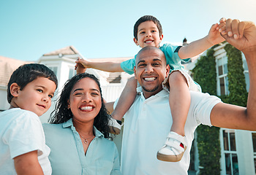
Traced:
[[[217, 47], [214, 46], [214, 47]], [[203, 93], [217, 95], [217, 73], [214, 47], [201, 56], [192, 70], [192, 77], [199, 83]], [[199, 125], [197, 127], [197, 149], [199, 154], [200, 174], [220, 174], [219, 128]]]

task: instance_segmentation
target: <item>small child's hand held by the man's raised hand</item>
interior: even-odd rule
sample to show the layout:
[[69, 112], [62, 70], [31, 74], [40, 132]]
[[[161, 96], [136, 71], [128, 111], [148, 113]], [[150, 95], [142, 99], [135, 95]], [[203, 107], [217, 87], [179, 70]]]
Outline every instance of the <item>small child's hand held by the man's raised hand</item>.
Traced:
[[219, 44], [220, 42], [224, 42], [225, 39], [219, 34], [219, 24], [214, 24], [211, 26], [211, 29], [208, 33], [208, 42], [212, 45]]

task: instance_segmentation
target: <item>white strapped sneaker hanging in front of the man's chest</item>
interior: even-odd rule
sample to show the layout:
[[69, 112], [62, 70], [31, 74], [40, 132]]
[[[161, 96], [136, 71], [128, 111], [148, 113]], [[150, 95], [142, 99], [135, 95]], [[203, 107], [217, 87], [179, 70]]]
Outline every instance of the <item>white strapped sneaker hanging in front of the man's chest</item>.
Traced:
[[157, 159], [167, 162], [178, 162], [181, 160], [187, 144], [185, 136], [181, 136], [178, 133], [170, 131], [165, 141], [164, 147], [157, 152]]

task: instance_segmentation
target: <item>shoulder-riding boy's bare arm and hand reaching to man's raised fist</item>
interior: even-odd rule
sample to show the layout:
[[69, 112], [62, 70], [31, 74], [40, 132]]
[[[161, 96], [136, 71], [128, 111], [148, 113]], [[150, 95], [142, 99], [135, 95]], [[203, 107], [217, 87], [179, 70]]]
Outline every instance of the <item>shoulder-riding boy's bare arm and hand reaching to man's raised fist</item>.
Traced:
[[[220, 21], [221, 22], [221, 21]], [[207, 50], [208, 48], [224, 42], [225, 39], [219, 34], [219, 25], [216, 23], [211, 26], [211, 29], [207, 36], [202, 39], [198, 39], [195, 42], [191, 42], [178, 50], [178, 56], [181, 59], [192, 58], [199, 55], [201, 52]]]

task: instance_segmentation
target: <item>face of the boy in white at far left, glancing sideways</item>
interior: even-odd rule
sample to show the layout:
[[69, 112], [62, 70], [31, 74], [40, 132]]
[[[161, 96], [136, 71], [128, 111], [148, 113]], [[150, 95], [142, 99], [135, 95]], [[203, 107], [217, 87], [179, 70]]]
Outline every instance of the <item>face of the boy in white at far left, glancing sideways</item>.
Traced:
[[15, 90], [15, 93], [12, 94], [14, 98], [12, 98], [11, 105], [41, 116], [50, 108], [55, 90], [56, 85], [53, 81], [45, 77], [38, 77], [29, 82], [23, 90], [20, 90], [19, 87]]

